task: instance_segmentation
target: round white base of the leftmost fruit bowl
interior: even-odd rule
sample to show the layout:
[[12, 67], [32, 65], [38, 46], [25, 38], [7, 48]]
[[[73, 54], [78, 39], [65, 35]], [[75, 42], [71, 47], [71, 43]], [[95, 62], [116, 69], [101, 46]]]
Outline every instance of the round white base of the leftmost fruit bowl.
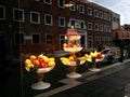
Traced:
[[31, 85], [31, 88], [32, 89], [46, 89], [46, 88], [49, 88], [51, 84], [48, 82], [38, 82], [38, 83], [34, 83]]

